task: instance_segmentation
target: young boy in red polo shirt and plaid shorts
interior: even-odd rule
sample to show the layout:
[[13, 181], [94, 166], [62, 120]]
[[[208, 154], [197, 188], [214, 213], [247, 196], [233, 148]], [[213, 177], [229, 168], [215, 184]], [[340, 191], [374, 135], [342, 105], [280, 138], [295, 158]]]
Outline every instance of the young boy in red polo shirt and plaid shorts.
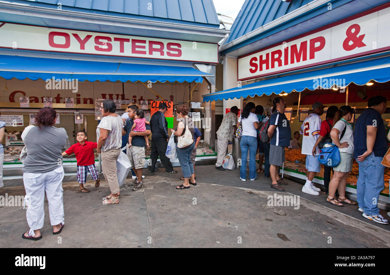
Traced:
[[93, 180], [96, 181], [95, 187], [99, 187], [99, 173], [95, 167], [94, 148], [97, 148], [96, 142], [87, 141], [87, 133], [78, 131], [76, 139], [78, 143], [73, 144], [68, 150], [62, 153], [62, 156], [74, 153], [77, 160], [77, 182], [80, 183], [80, 190], [83, 193], [89, 193], [89, 190], [84, 187], [87, 182], [87, 173], [91, 174]]

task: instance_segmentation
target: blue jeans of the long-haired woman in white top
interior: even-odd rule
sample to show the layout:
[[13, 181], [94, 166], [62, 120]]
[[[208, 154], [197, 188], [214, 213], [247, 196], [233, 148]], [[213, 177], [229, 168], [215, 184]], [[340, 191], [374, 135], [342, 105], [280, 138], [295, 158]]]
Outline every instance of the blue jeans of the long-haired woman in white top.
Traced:
[[257, 152], [257, 138], [252, 136], [242, 136], [240, 141], [241, 148], [241, 167], [240, 178], [246, 180], [246, 157], [249, 150], [249, 179], [257, 178], [256, 173], [256, 152]]

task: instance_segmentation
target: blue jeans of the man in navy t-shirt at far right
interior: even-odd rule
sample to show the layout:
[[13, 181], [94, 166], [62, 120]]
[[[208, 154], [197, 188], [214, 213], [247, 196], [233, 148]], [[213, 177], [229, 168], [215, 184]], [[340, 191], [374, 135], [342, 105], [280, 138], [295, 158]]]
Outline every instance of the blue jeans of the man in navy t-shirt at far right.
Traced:
[[366, 215], [378, 215], [379, 193], [385, 188], [385, 166], [381, 164], [382, 157], [371, 153], [359, 164], [359, 178], [356, 185], [359, 207]]

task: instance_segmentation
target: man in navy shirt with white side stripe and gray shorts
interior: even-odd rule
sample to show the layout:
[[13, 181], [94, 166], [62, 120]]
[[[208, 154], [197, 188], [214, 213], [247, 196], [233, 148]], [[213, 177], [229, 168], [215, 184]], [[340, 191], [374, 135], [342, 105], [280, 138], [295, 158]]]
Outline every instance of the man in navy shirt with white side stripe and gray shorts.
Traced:
[[278, 191], [284, 191], [281, 185], [287, 185], [279, 176], [279, 166], [285, 161], [284, 147], [290, 145], [290, 123], [284, 114], [285, 103], [282, 97], [273, 100], [273, 113], [269, 118], [268, 136], [269, 146], [269, 173], [271, 174], [271, 187]]

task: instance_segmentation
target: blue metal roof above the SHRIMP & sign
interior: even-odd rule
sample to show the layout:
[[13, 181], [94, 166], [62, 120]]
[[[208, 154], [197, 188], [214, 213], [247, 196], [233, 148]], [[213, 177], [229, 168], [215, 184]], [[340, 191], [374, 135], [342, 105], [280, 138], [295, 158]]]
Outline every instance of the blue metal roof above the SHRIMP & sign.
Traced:
[[234, 20], [229, 37], [224, 44], [229, 43], [246, 33], [292, 12], [313, 0], [245, 0], [238, 16]]

